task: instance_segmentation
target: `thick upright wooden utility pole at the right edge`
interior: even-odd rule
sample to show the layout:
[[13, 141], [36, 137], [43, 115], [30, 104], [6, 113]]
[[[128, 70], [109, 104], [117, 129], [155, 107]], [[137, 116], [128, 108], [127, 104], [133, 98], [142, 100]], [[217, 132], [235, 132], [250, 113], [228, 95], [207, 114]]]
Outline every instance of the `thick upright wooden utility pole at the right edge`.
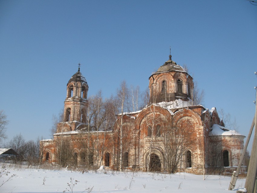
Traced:
[[[256, 100], [257, 101], [257, 92], [256, 92]], [[255, 179], [257, 174], [257, 104], [255, 104], [255, 131], [254, 131], [254, 138], [252, 143], [252, 151], [251, 151], [251, 157], [249, 162], [249, 168], [248, 173], [246, 176], [246, 184], [245, 188], [247, 190], [247, 193], [253, 193], [254, 192], [254, 186], [255, 186]]]

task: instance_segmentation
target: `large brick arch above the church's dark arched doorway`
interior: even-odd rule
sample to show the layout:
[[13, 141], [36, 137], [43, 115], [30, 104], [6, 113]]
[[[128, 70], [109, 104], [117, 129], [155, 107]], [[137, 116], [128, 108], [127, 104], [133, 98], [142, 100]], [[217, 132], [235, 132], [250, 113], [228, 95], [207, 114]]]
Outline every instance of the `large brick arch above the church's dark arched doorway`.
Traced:
[[[137, 116], [137, 118], [135, 119], [135, 129], [136, 130], [140, 130], [140, 126], [141, 126], [141, 123], [142, 121], [147, 118], [147, 116], [149, 114], [153, 113], [153, 105], [151, 106], [148, 106], [147, 108], [143, 109]], [[167, 119], [167, 122], [170, 123], [171, 122], [171, 114], [170, 112], [167, 110], [167, 109], [164, 109], [160, 106], [156, 106], [155, 105], [155, 114], [158, 114], [158, 115], [163, 115], [166, 119]], [[158, 118], [158, 116], [155, 118], [157, 121], [156, 121], [156, 124], [159, 122], [161, 122], [161, 119]], [[166, 121], [165, 121], [166, 122]], [[148, 121], [146, 120], [146, 123], [148, 123]], [[146, 124], [145, 123], [145, 124]], [[144, 129], [144, 128], [141, 128], [141, 130]]]

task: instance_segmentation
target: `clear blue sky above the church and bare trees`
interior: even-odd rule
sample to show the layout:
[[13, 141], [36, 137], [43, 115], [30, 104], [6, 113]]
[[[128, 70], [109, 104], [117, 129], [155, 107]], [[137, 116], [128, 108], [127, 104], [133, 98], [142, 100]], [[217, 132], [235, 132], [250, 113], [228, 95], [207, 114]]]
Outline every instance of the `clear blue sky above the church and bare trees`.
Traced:
[[257, 6], [218, 1], [0, 1], [0, 109], [8, 140], [50, 138], [77, 71], [89, 95], [115, 94], [122, 80], [148, 87], [154, 69], [187, 64], [205, 91], [247, 136], [255, 113]]

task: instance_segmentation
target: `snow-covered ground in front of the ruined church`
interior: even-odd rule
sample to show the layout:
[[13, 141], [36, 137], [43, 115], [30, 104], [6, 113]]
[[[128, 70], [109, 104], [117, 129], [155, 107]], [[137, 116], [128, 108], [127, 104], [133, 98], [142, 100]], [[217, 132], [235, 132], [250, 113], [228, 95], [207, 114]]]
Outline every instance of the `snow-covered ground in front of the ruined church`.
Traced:
[[[233, 191], [227, 190], [230, 177], [220, 175], [193, 175], [188, 173], [161, 174], [146, 172], [116, 172], [116, 171], [97, 171], [97, 172], [73, 172], [67, 169], [46, 170], [13, 167], [5, 165], [8, 175], [0, 177], [0, 185], [11, 175], [11, 181], [6, 182], [0, 187], [0, 192], [236, 192], [243, 188], [245, 179], [238, 179]], [[72, 187], [72, 183], [76, 184]], [[72, 181], [72, 182], [71, 182]], [[70, 187], [68, 186], [70, 185]], [[66, 189], [67, 188], [67, 189]], [[89, 189], [88, 189], [89, 188]], [[69, 190], [69, 191], [68, 191]]]

